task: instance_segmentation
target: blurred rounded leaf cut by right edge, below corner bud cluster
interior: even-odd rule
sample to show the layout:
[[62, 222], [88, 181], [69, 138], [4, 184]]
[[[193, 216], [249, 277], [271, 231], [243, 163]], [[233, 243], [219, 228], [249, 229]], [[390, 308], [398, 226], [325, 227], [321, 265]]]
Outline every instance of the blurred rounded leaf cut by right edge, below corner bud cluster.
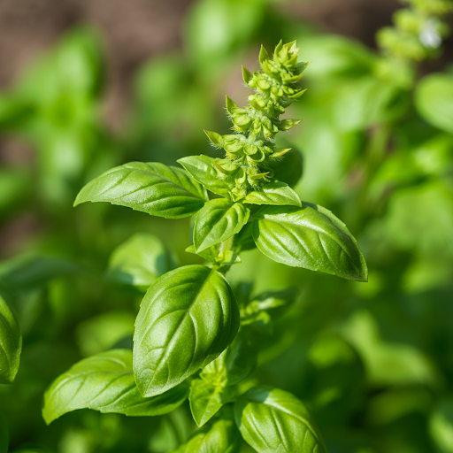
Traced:
[[453, 75], [434, 73], [419, 81], [415, 106], [428, 123], [453, 134]]

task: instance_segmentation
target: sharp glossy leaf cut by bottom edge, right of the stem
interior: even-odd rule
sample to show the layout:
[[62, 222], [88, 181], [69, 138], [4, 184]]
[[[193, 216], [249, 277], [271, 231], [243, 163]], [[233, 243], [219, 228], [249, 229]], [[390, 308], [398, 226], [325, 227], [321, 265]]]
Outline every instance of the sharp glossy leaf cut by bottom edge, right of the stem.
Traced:
[[258, 453], [326, 453], [309, 411], [279, 388], [250, 388], [234, 403], [243, 439]]

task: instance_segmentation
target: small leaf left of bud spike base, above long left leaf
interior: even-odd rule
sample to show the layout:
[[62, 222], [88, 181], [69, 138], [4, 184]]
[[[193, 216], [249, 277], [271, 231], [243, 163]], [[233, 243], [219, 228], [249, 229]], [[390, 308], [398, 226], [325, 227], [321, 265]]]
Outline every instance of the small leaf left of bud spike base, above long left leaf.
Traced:
[[178, 160], [194, 180], [198, 181], [203, 187], [210, 190], [213, 194], [229, 198], [229, 187], [224, 180], [219, 178], [219, 172], [214, 166], [217, 159], [208, 156], [188, 156]]

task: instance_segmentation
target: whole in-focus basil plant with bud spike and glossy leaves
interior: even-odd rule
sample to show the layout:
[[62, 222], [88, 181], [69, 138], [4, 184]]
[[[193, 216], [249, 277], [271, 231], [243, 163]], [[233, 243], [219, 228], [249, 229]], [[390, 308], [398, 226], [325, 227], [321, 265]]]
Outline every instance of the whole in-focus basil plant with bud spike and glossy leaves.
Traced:
[[255, 247], [284, 265], [367, 280], [348, 228], [293, 190], [302, 173], [299, 154], [275, 144], [276, 134], [299, 122], [280, 119], [304, 91], [297, 82], [308, 64], [297, 57], [296, 42], [280, 42], [272, 58], [261, 49], [260, 72], [243, 68], [254, 94], [243, 108], [226, 97], [233, 133], [205, 131], [224, 158], [184, 157], [180, 167], [131, 162], [81, 189], [75, 205], [110, 202], [165, 219], [195, 216], [187, 251], [208, 264], [182, 266], [154, 281], [135, 320], [134, 349], [85, 358], [59, 376], [44, 396], [48, 424], [81, 408], [157, 416], [188, 398], [199, 429], [179, 453], [234, 453], [243, 441], [259, 453], [326, 452], [301, 401], [250, 380], [261, 342], [257, 326], [291, 296], [236, 301], [226, 280], [241, 253]]

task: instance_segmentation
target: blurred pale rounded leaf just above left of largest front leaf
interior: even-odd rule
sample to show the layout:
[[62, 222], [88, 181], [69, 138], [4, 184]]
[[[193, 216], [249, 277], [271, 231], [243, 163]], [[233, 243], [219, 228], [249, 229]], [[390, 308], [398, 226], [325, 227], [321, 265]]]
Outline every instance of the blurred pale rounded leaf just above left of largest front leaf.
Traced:
[[113, 250], [106, 278], [123, 285], [148, 288], [173, 267], [165, 245], [152, 234], [139, 233]]

